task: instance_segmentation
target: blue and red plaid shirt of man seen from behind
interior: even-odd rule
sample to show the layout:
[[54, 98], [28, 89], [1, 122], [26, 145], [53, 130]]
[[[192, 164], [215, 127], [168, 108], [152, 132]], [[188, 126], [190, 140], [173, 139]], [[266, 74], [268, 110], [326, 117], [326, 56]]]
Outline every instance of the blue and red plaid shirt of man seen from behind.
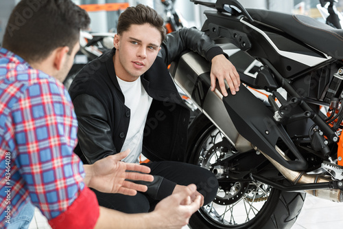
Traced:
[[78, 197], [84, 171], [73, 153], [77, 129], [62, 83], [1, 48], [0, 228], [7, 209], [14, 217], [28, 200], [52, 219]]

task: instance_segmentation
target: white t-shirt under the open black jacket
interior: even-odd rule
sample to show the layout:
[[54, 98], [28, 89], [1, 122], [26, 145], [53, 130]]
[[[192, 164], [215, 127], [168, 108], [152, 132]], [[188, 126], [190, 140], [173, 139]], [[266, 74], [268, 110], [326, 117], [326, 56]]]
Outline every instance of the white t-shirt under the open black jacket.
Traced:
[[126, 82], [117, 76], [117, 80], [125, 97], [125, 105], [130, 109], [128, 133], [121, 148], [121, 151], [130, 149], [130, 154], [123, 159], [123, 162], [138, 163], [139, 155], [142, 152], [147, 112], [150, 109], [152, 98], [145, 91], [140, 78], [133, 82]]

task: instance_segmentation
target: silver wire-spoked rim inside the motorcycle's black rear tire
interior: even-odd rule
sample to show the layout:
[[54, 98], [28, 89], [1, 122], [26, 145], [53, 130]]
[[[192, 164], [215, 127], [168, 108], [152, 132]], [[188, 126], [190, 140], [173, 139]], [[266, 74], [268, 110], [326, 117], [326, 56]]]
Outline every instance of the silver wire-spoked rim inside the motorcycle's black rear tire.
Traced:
[[220, 188], [215, 199], [200, 208], [200, 214], [209, 223], [221, 228], [253, 223], [268, 202], [272, 188], [261, 182], [231, 182], [225, 168], [217, 162], [237, 153], [218, 129], [211, 126], [200, 138], [196, 147], [195, 164], [215, 173]]

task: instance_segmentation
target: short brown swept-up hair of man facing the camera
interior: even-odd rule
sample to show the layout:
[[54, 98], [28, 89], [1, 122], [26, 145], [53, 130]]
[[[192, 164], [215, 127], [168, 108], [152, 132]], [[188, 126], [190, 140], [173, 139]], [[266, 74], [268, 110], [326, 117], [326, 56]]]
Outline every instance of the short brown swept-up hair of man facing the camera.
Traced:
[[165, 39], [165, 28], [163, 18], [156, 10], [149, 6], [139, 4], [126, 8], [118, 19], [117, 34], [121, 35], [130, 29], [130, 25], [143, 25], [149, 23], [161, 33], [161, 42]]

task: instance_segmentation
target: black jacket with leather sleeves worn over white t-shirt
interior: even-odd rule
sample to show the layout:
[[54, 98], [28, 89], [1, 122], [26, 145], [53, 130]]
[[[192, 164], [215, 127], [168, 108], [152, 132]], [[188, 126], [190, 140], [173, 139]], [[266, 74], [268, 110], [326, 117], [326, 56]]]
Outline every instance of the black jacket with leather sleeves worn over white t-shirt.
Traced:
[[[196, 28], [182, 28], [167, 34], [156, 61], [141, 76], [143, 87], [153, 98], [143, 136], [143, 154], [150, 160], [184, 159], [189, 109], [182, 102], [167, 65], [187, 49], [198, 52], [209, 61], [224, 54]], [[79, 125], [75, 153], [84, 163], [94, 163], [107, 155], [119, 153], [128, 132], [130, 109], [124, 105], [124, 96], [117, 82], [114, 54], [115, 49], [88, 63], [69, 89]], [[165, 195], [158, 192], [162, 183], [162, 177], [155, 177], [153, 184], [148, 185], [147, 193], [155, 199], [162, 199]]]

